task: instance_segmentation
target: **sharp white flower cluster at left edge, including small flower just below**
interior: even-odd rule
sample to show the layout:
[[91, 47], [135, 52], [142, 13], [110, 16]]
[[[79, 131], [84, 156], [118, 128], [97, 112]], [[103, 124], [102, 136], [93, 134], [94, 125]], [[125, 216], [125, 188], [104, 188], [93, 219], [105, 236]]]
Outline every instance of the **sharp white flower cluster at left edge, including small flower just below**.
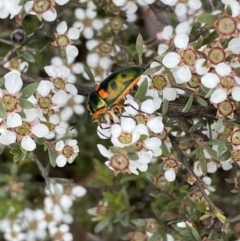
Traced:
[[[50, 81], [33, 83], [33, 89], [22, 89], [21, 73], [17, 70], [4, 76], [4, 88], [0, 89], [2, 145], [19, 143], [24, 151], [30, 152], [36, 148], [38, 138], [52, 139], [66, 133], [68, 125], [64, 123], [73, 113], [66, 104], [72, 96], [78, 103], [83, 98], [77, 95], [76, 87], [69, 80], [70, 70], [67, 67], [46, 66], [45, 71]], [[67, 116], [61, 120], [59, 111], [63, 106]], [[75, 112], [83, 112], [83, 108], [75, 109]], [[79, 152], [76, 140], [59, 141], [56, 152], [59, 154], [58, 166], [72, 163]]]

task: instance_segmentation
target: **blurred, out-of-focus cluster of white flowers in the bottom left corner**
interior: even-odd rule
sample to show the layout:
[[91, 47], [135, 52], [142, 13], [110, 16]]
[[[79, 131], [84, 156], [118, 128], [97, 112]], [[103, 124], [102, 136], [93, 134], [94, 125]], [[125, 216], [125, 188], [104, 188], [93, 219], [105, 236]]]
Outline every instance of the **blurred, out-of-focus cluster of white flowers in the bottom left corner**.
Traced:
[[72, 241], [69, 225], [73, 222], [71, 208], [75, 200], [86, 194], [82, 186], [51, 184], [46, 189], [43, 209], [26, 208], [15, 220], [3, 219], [0, 231], [6, 241], [37, 241], [47, 237], [54, 241]]

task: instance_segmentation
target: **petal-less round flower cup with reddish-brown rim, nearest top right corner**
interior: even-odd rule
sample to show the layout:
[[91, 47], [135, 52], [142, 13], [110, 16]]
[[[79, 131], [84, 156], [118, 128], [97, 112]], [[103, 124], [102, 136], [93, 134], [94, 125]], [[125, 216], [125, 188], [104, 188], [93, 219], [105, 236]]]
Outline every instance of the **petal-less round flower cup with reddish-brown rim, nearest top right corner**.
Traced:
[[237, 37], [237, 22], [236, 20], [224, 13], [222, 16], [214, 23], [214, 27], [218, 34], [225, 38], [225, 37]]

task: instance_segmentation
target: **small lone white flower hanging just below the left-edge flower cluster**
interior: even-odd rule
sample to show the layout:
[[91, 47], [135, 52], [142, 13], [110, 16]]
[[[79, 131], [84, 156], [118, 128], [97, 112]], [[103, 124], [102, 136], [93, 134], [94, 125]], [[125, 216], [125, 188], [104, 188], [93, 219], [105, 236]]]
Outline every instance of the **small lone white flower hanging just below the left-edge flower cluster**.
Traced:
[[59, 167], [65, 166], [67, 162], [72, 163], [79, 152], [77, 141], [72, 139], [66, 140], [65, 142], [62, 140], [58, 141], [55, 149], [59, 154], [56, 159], [56, 164]]

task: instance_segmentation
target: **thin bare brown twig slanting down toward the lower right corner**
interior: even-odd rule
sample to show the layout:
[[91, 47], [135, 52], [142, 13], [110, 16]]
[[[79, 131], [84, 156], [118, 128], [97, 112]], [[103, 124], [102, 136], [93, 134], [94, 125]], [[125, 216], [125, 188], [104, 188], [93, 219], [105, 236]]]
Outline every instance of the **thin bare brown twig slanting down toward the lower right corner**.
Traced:
[[209, 198], [209, 196], [206, 194], [206, 192], [204, 191], [202, 185], [201, 185], [201, 180], [199, 179], [199, 177], [194, 173], [194, 171], [192, 170], [191, 166], [189, 165], [188, 161], [186, 160], [186, 157], [183, 155], [181, 149], [179, 148], [176, 138], [169, 133], [168, 134], [169, 139], [171, 141], [171, 144], [173, 146], [173, 149], [177, 152], [179, 161], [181, 163], [183, 163], [183, 165], [185, 166], [185, 168], [187, 169], [188, 173], [191, 174], [192, 176], [194, 176], [194, 178], [196, 179], [196, 185], [198, 186], [200, 192], [202, 193], [204, 199], [207, 201], [207, 203], [209, 204], [209, 206], [214, 210], [217, 211], [218, 208], [215, 206], [215, 204], [213, 203], [213, 201]]

